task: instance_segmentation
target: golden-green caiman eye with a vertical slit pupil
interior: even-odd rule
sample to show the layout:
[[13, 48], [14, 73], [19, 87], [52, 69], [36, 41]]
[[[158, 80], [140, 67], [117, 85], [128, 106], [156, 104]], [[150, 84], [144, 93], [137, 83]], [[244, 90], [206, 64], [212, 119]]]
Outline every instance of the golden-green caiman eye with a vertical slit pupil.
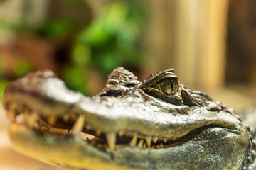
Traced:
[[166, 95], [175, 95], [178, 92], [178, 81], [175, 79], [161, 79], [153, 87]]

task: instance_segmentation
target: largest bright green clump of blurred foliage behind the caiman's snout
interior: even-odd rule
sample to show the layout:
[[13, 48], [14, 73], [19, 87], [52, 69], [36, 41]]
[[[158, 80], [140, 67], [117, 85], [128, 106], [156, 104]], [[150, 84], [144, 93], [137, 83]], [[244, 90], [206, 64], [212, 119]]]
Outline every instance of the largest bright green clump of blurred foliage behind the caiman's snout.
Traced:
[[116, 67], [139, 67], [143, 51], [139, 34], [146, 18], [144, 4], [138, 1], [111, 1], [92, 23], [78, 34], [72, 60], [64, 78], [71, 88], [90, 94], [88, 67], [107, 75]]

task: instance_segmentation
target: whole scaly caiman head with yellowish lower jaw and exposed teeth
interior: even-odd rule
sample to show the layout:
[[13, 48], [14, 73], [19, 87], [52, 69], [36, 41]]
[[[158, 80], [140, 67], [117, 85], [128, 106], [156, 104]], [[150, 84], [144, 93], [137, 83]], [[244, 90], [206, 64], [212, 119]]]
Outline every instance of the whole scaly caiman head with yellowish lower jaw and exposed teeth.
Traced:
[[16, 149], [66, 169], [255, 169], [249, 128], [173, 69], [138, 81], [119, 67], [93, 97], [38, 71], [9, 84], [3, 104]]

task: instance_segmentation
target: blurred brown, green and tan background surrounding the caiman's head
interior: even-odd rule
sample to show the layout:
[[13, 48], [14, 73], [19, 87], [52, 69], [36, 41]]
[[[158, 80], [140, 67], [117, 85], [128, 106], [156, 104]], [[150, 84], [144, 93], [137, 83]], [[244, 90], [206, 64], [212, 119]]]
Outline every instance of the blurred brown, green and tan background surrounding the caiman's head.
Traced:
[[[256, 1], [0, 1], [0, 101], [9, 81], [38, 69], [93, 96], [120, 66], [140, 80], [174, 68], [189, 89], [242, 111], [256, 101]], [[0, 169], [16, 169], [11, 157], [23, 157], [0, 152]]]

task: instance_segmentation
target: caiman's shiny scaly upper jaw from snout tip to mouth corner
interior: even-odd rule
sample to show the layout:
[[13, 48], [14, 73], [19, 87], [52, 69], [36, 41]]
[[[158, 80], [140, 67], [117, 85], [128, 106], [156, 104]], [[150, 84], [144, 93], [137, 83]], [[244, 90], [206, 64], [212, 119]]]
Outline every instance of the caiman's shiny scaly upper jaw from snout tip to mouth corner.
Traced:
[[3, 103], [6, 110], [11, 111], [9, 117], [16, 116], [12, 113], [29, 111], [33, 118], [43, 118], [50, 125], [61, 120], [71, 129], [79, 122], [76, 131], [90, 127], [110, 136], [124, 133], [132, 137], [136, 134], [145, 140], [153, 137], [175, 140], [207, 125], [231, 129], [239, 126], [239, 121], [225, 111], [218, 114], [200, 106], [176, 106], [144, 94], [136, 87], [122, 98], [91, 98], [70, 91], [51, 72], [38, 74], [36, 78], [34, 74], [28, 74], [7, 86]]

